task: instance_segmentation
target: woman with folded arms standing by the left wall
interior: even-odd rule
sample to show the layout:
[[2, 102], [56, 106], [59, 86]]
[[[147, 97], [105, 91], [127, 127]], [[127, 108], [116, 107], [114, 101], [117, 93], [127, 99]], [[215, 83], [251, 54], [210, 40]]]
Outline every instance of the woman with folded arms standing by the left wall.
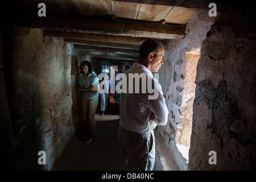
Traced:
[[89, 119], [90, 135], [86, 137], [87, 144], [92, 143], [96, 133], [96, 122], [94, 120], [96, 109], [98, 106], [98, 97], [100, 94], [97, 92], [99, 80], [92, 69], [89, 61], [82, 61], [80, 64], [80, 82], [79, 92], [82, 93], [82, 117], [84, 121]]

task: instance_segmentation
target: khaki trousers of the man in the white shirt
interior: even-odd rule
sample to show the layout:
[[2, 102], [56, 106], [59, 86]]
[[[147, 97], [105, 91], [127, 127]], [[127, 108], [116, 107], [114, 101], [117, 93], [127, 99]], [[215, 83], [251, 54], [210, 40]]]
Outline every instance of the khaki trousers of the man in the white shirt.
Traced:
[[122, 127], [118, 130], [118, 140], [121, 146], [122, 169], [128, 163], [131, 171], [152, 171], [155, 163], [154, 131], [146, 134], [127, 131]]

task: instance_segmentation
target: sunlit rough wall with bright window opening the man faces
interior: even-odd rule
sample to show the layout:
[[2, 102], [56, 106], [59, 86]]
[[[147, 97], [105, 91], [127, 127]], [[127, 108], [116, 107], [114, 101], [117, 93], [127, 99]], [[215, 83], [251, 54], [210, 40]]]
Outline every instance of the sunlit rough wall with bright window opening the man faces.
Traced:
[[169, 114], [167, 125], [158, 126], [158, 131], [181, 170], [187, 170], [188, 161], [184, 156], [188, 158], [190, 146], [196, 65], [201, 44], [215, 19], [205, 11], [187, 24], [185, 39], [169, 40], [164, 65], [159, 70]]

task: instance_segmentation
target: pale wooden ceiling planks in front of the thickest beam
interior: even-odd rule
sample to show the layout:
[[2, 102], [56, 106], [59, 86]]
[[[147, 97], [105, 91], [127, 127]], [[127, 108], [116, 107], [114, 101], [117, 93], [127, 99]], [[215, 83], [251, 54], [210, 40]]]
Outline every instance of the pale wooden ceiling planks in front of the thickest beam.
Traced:
[[55, 13], [81, 15], [115, 15], [117, 18], [145, 20], [150, 22], [186, 24], [203, 10], [165, 5], [148, 5], [113, 0], [15, 0], [17, 4], [34, 10], [38, 3], [46, 3], [47, 9]]

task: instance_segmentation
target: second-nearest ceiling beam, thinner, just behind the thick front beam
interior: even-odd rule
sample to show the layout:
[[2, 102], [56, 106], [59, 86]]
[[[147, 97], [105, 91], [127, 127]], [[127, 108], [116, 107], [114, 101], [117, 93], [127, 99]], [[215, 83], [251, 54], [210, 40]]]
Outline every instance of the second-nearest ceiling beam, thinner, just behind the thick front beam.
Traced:
[[74, 44], [85, 44], [88, 46], [98, 46], [98, 47], [111, 47], [111, 48], [122, 48], [122, 49], [135, 49], [139, 50], [139, 46], [130, 45], [130, 44], [117, 44], [109, 42], [98, 42], [98, 41], [89, 41], [89, 40], [79, 40], [79, 39], [64, 39], [65, 42], [74, 43]]

